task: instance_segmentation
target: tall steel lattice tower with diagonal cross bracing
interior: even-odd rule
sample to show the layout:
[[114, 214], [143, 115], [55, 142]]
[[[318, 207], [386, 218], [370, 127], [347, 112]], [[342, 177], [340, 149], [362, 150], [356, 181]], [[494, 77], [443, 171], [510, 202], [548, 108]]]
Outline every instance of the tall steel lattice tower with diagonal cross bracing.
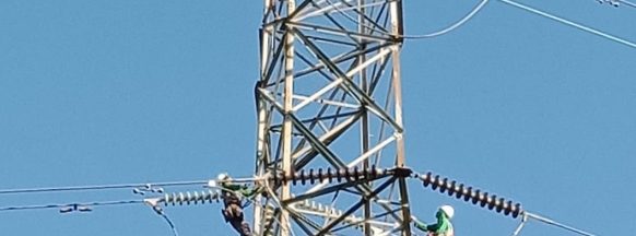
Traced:
[[264, 0], [256, 235], [411, 235], [402, 33], [401, 0]]

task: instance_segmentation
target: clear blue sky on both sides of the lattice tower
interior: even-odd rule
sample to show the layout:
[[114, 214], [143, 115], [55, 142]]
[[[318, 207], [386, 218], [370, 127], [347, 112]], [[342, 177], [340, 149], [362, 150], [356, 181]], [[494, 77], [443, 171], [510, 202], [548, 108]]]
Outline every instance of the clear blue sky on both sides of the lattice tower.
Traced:
[[[636, 9], [525, 1], [636, 40]], [[475, 1], [407, 1], [410, 34]], [[0, 1], [0, 189], [249, 176], [262, 2]], [[402, 55], [408, 163], [599, 235], [636, 232], [636, 49], [492, 1]], [[178, 190], [178, 189], [170, 189]], [[413, 212], [456, 206], [458, 235], [517, 221], [411, 185]], [[137, 199], [0, 196], [0, 206]], [[220, 205], [169, 208], [180, 235], [234, 235]], [[0, 212], [2, 235], [170, 235], [141, 205]], [[531, 223], [525, 236], [568, 235]]]

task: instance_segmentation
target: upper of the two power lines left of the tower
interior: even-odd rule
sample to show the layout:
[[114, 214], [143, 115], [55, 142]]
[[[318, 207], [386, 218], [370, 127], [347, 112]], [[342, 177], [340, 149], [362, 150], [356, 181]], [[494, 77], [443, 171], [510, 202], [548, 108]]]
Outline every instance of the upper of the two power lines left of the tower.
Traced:
[[193, 186], [193, 185], [207, 185], [207, 184], [208, 184], [208, 180], [192, 180], [192, 181], [168, 181], [168, 182], [146, 182], [146, 184], [120, 184], [120, 185], [95, 185], [95, 186], [3, 189], [3, 190], [0, 190], [0, 194], [109, 190], [109, 189], [142, 188], [142, 187], [150, 187], [150, 186], [174, 187], [174, 186]]

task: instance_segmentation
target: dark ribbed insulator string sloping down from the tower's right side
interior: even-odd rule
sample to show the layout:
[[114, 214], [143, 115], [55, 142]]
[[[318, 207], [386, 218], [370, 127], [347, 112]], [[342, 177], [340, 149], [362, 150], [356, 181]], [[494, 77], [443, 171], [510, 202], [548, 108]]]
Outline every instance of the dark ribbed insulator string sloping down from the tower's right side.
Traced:
[[439, 175], [434, 175], [431, 172], [424, 175], [415, 175], [415, 177], [422, 180], [424, 187], [438, 190], [440, 193], [446, 192], [448, 196], [455, 196], [457, 199], [463, 199], [466, 202], [472, 202], [475, 205], [479, 204], [482, 208], [494, 210], [497, 213], [511, 215], [515, 219], [523, 214], [523, 209], [518, 202], [516, 203], [506, 200], [505, 198], [498, 198], [496, 194], [482, 191], [471, 186], [466, 186], [463, 184], [457, 182], [456, 180], [449, 180], [445, 177], [443, 178]]

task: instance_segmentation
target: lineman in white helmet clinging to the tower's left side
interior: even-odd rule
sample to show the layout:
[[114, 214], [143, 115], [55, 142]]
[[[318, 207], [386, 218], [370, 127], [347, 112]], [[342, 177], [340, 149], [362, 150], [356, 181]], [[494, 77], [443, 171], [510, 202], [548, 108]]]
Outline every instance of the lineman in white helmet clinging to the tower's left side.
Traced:
[[250, 236], [249, 224], [245, 222], [243, 216], [244, 205], [242, 201], [244, 198], [254, 197], [260, 188], [232, 184], [232, 177], [225, 173], [220, 174], [217, 180], [221, 182], [221, 193], [225, 206], [222, 213], [225, 222], [228, 222], [240, 236]]

